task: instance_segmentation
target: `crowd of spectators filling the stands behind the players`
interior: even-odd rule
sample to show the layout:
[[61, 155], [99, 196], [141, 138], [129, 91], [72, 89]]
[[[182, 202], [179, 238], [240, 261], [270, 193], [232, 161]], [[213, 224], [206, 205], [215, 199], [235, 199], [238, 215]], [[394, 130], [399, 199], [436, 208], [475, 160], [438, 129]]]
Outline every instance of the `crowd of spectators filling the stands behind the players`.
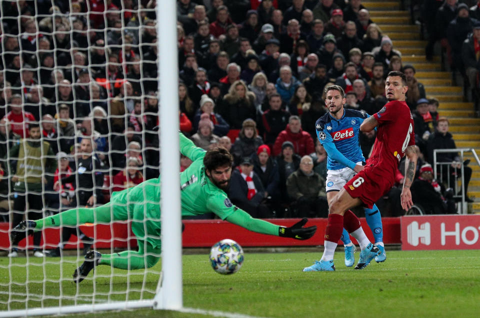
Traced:
[[[430, 2], [440, 3], [424, 4]], [[17, 213], [23, 213], [29, 189], [49, 193], [40, 201], [55, 213], [108, 202], [112, 191], [158, 176], [155, 0], [46, 3], [1, 3], [3, 211], [9, 210], [10, 189], [17, 191], [12, 200]], [[463, 14], [463, 6], [446, 0], [438, 12], [452, 10], [452, 20]], [[443, 26], [446, 35], [454, 32], [458, 41], [457, 32], [449, 31], [450, 20], [434, 26]], [[435, 181], [428, 164], [433, 149], [455, 148], [448, 120], [438, 117], [438, 101], [426, 99], [415, 68], [402, 64], [401, 52], [360, 0], [178, 0], [177, 22], [177, 48], [172, 49], [178, 50], [180, 131], [201, 148], [223, 146], [232, 153], [228, 195], [234, 204], [254, 217], [326, 217], [326, 152], [314, 128], [327, 112], [324, 87], [341, 86], [345, 108], [373, 115], [386, 103], [386, 74], [402, 71], [422, 153], [414, 202], [428, 193], [429, 201], [422, 203], [427, 213], [454, 210], [451, 190], [445, 191], [453, 181]], [[462, 31], [465, 39], [473, 32], [467, 39], [471, 48], [464, 44], [458, 51], [456, 45], [452, 55], [471, 53], [474, 65], [463, 59], [464, 67], [476, 77], [480, 22], [471, 22], [468, 32]], [[20, 187], [15, 159], [26, 156], [18, 153], [18, 145], [27, 137], [33, 141], [23, 148], [39, 151], [41, 146], [43, 156], [25, 160], [53, 166], [20, 180]], [[365, 158], [374, 140], [374, 132], [360, 136]], [[55, 156], [56, 171], [50, 162]], [[459, 174], [457, 154], [442, 160], [452, 163], [443, 176]], [[190, 162], [182, 157], [180, 163], [185, 169]], [[397, 185], [402, 184], [401, 164]], [[465, 166], [464, 173], [466, 189], [471, 169]], [[399, 193], [394, 187], [378, 203], [383, 215], [402, 213]], [[5, 220], [7, 215], [2, 214]]]

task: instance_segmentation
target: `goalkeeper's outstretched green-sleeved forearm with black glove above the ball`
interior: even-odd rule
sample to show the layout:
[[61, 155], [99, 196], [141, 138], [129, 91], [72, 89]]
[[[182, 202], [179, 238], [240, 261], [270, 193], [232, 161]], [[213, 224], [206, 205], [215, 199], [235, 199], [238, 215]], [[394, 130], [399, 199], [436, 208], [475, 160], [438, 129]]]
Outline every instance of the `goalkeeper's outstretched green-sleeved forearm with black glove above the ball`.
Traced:
[[284, 237], [291, 237], [295, 239], [308, 239], [315, 234], [316, 225], [303, 227], [307, 222], [306, 218], [303, 218], [299, 222], [295, 223], [290, 227], [279, 226], [272, 224], [270, 222], [255, 219], [250, 216], [250, 214], [246, 213], [241, 209], [236, 209], [236, 211], [230, 214], [225, 220], [235, 225], [241, 226], [246, 228], [247, 230], [262, 233], [262, 234], [269, 234], [269, 235], [276, 235], [276, 236], [284, 236]]

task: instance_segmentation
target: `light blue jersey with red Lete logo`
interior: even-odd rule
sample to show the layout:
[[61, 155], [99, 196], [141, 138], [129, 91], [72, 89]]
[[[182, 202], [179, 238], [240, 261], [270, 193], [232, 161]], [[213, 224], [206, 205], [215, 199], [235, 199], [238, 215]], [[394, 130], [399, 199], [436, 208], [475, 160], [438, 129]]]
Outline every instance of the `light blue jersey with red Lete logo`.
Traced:
[[365, 161], [358, 138], [360, 125], [368, 117], [366, 113], [344, 109], [340, 120], [326, 113], [316, 121], [316, 137], [328, 154], [328, 170], [353, 170], [357, 162]]

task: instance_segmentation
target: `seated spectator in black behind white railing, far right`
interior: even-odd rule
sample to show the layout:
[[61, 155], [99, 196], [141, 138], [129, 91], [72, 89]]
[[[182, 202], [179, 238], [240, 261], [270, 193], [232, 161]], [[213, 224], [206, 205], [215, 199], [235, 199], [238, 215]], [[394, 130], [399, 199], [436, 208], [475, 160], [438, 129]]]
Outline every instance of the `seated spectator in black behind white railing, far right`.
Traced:
[[[426, 145], [427, 154], [428, 154], [428, 161], [433, 161], [433, 150], [435, 149], [455, 149], [455, 141], [452, 138], [452, 135], [448, 132], [449, 122], [448, 119], [445, 117], [440, 117], [438, 119], [438, 124], [436, 127], [436, 131], [430, 135], [428, 139], [428, 143]], [[473, 202], [467, 196], [468, 190], [468, 183], [470, 182], [472, 169], [467, 166], [468, 161], [461, 162], [458, 153], [455, 152], [446, 152], [446, 153], [437, 153], [436, 155], [436, 162], [451, 162], [450, 168], [442, 165], [441, 166], [441, 176], [443, 177], [442, 182], [446, 182], [447, 175], [450, 174], [450, 184], [449, 187], [453, 189], [457, 189], [456, 186], [456, 178], [460, 177], [461, 174], [461, 165], [463, 165], [463, 189], [465, 191], [465, 201], [466, 202]], [[448, 169], [448, 170], [447, 170]]]

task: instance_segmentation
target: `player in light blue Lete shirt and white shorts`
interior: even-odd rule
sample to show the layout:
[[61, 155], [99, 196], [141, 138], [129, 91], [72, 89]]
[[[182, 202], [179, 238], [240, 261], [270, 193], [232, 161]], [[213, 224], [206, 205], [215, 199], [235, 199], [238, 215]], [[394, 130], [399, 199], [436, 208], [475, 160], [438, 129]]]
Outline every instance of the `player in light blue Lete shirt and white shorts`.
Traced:
[[[326, 198], [330, 204], [346, 182], [355, 173], [363, 170], [365, 158], [362, 155], [358, 136], [360, 124], [369, 115], [357, 110], [344, 109], [345, 93], [340, 86], [327, 87], [325, 95], [325, 106], [329, 112], [316, 121], [315, 129], [318, 140], [328, 154]], [[375, 239], [375, 245], [381, 251], [375, 260], [382, 262], [386, 259], [386, 254], [380, 212], [376, 205], [373, 205], [371, 209], [364, 207], [364, 211], [366, 221]], [[351, 267], [355, 261], [353, 256], [355, 246], [351, 243], [345, 229], [343, 229], [341, 240], [345, 246], [345, 265]]]

